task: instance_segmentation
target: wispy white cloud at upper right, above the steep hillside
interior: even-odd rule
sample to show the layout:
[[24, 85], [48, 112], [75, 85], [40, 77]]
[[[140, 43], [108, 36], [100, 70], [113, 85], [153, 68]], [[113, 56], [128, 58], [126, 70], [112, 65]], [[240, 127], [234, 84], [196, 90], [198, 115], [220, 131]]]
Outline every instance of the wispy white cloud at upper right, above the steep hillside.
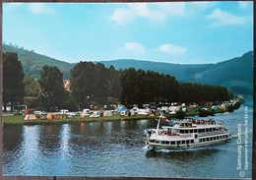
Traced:
[[246, 22], [246, 18], [235, 16], [228, 12], [224, 12], [221, 9], [214, 10], [214, 12], [207, 16], [207, 18], [216, 20], [216, 23], [212, 24], [213, 27], [220, 27], [224, 25], [240, 25]]

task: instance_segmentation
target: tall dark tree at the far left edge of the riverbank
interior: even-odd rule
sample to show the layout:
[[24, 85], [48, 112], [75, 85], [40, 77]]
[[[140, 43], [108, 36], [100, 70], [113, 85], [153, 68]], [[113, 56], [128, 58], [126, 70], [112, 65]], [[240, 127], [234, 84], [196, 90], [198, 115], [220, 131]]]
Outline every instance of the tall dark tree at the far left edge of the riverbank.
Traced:
[[7, 104], [14, 106], [23, 103], [24, 98], [24, 72], [17, 53], [6, 52], [3, 54], [3, 104], [6, 111]]

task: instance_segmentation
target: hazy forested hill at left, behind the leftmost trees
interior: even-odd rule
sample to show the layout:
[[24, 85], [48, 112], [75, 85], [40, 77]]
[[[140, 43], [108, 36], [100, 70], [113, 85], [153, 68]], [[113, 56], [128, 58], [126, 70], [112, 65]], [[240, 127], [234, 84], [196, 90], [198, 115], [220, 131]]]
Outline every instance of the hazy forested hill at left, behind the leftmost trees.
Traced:
[[64, 79], [69, 79], [70, 70], [75, 66], [75, 64], [56, 60], [44, 55], [37, 54], [33, 51], [17, 48], [10, 45], [3, 44], [2, 50], [3, 52], [16, 52], [18, 54], [19, 60], [23, 64], [24, 74], [36, 79], [40, 78], [41, 68], [44, 65], [57, 66], [63, 73]]

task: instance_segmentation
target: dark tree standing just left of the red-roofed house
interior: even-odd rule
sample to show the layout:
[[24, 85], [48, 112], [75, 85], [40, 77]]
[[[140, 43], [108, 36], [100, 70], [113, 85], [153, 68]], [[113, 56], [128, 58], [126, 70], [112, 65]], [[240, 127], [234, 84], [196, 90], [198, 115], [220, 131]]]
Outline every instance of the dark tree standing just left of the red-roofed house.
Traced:
[[45, 110], [60, 109], [65, 101], [63, 74], [56, 67], [43, 66], [38, 80], [40, 85], [39, 100]]

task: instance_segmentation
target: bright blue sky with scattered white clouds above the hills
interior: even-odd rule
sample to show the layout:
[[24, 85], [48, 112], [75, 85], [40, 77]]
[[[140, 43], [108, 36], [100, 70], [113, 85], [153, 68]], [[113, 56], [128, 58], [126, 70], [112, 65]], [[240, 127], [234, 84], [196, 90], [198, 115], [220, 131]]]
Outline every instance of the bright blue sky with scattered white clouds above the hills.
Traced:
[[71, 63], [217, 63], [253, 50], [253, 3], [4, 3], [3, 41]]

